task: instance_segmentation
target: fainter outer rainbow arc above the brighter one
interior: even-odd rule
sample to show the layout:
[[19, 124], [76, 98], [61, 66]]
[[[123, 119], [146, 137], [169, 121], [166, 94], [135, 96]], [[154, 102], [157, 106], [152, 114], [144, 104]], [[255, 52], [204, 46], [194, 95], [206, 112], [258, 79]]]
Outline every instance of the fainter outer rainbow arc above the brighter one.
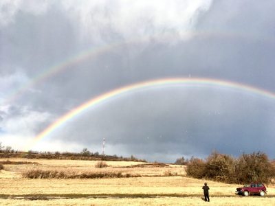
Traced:
[[[254, 36], [251, 36], [251, 34], [250, 35], [234, 34], [230, 32], [225, 33], [225, 32], [192, 31], [192, 32], [179, 32], [178, 36], [181, 36], [181, 38], [186, 38], [186, 39], [192, 38], [192, 37], [199, 37], [199, 36], [202, 36], [202, 37], [214, 36], [214, 37], [223, 37], [223, 38], [251, 38], [252, 40], [257, 40], [256, 38], [254, 38]], [[23, 93], [28, 91], [30, 88], [34, 87], [36, 84], [41, 84], [42, 82], [45, 82], [45, 80], [51, 78], [52, 76], [56, 76], [58, 75], [58, 73], [61, 73], [74, 65], [78, 65], [78, 63], [80, 62], [83, 62], [88, 59], [96, 58], [97, 56], [106, 54], [111, 50], [122, 47], [123, 45], [134, 45], [135, 43], [139, 44], [139, 43], [151, 41], [151, 39], [154, 39], [154, 38], [159, 39], [160, 41], [169, 42], [170, 39], [175, 38], [175, 36], [173, 36], [173, 34], [166, 34], [164, 36], [155, 34], [153, 36], [143, 36], [142, 38], [135, 38], [131, 40], [115, 42], [109, 45], [103, 45], [103, 46], [101, 45], [98, 47], [93, 47], [91, 49], [84, 50], [82, 52], [69, 56], [68, 58], [65, 58], [61, 62], [57, 62], [51, 67], [48, 67], [47, 69], [44, 69], [43, 72], [38, 73], [30, 81], [25, 82], [25, 84], [22, 84], [21, 87], [14, 89], [13, 91], [10, 91], [10, 93], [5, 95], [4, 100], [0, 101], [0, 103], [9, 104], [10, 102], [17, 100], [17, 98], [23, 95]], [[266, 38], [261, 38], [261, 40], [263, 39], [266, 41]]]

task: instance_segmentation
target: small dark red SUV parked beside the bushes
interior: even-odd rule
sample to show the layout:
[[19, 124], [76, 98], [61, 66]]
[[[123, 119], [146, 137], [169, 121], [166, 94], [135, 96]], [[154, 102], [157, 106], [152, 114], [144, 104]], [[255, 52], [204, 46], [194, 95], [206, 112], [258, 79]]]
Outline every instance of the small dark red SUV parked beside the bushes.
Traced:
[[243, 194], [244, 196], [249, 196], [250, 194], [259, 194], [264, 196], [267, 194], [267, 190], [263, 183], [251, 183], [244, 185], [243, 187], [236, 188], [237, 194]]

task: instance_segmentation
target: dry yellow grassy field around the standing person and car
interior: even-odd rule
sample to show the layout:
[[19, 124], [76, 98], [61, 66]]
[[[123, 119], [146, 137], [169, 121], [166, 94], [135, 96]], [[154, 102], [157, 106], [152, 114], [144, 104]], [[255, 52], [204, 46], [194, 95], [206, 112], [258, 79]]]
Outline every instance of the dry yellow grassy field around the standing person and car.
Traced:
[[[275, 187], [265, 197], [234, 194], [240, 185], [207, 181], [210, 203], [202, 199], [205, 180], [188, 178], [184, 167], [137, 162], [9, 159], [0, 172], [0, 205], [275, 205]], [[5, 159], [1, 159], [5, 161]], [[30, 163], [24, 163], [29, 161]], [[28, 179], [30, 170], [65, 173], [121, 172], [140, 177], [109, 179]]]

